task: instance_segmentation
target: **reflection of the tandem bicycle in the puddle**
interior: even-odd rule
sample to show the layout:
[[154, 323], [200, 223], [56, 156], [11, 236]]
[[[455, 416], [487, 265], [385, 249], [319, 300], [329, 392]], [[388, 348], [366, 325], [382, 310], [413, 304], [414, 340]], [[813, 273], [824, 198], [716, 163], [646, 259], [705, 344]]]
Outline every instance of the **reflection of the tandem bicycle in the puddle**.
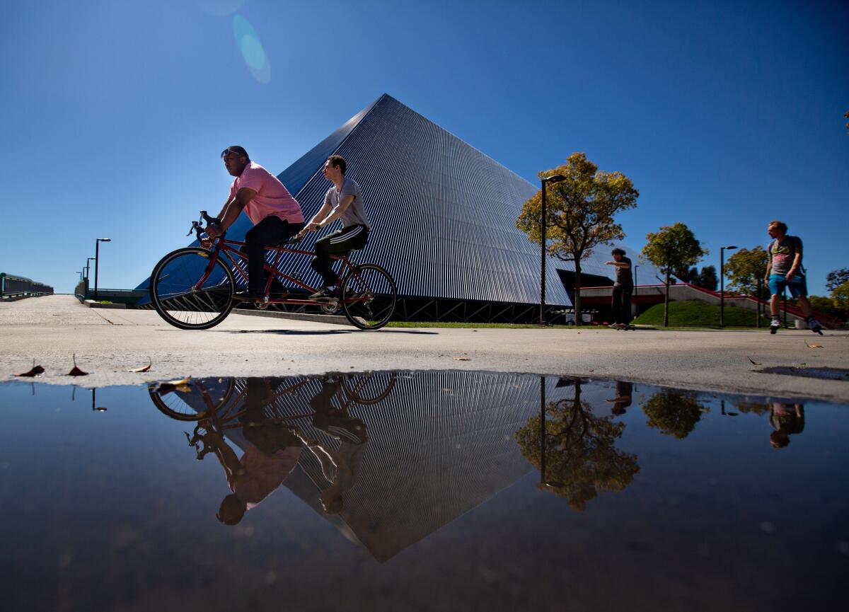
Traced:
[[[291, 383], [284, 379], [274, 388], [266, 381], [266, 404], [271, 405], [278, 398], [295, 394], [311, 380], [304, 378]], [[336, 396], [340, 398], [340, 407], [335, 412], [346, 412], [355, 403], [364, 406], [376, 404], [391, 393], [395, 382], [395, 373], [342, 374], [335, 380]], [[150, 399], [161, 413], [178, 421], [200, 421], [205, 418], [230, 421], [245, 413], [247, 389], [243, 388], [237, 393], [234, 379], [194, 380], [192, 386], [194, 388], [188, 393], [169, 387], [151, 387]], [[194, 401], [194, 405], [190, 400]], [[203, 408], [199, 409], [200, 406]], [[314, 413], [311, 411], [286, 414], [271, 420], [285, 422], [312, 416]], [[223, 429], [238, 426], [232, 424]]]

